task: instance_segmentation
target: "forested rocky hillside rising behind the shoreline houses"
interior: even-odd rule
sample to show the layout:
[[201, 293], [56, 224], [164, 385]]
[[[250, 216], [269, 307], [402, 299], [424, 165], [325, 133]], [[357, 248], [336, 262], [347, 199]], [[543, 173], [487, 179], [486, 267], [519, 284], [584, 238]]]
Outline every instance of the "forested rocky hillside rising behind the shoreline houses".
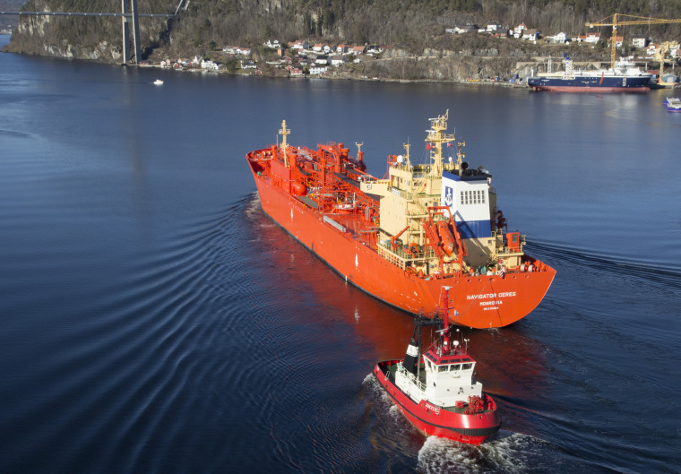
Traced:
[[[140, 13], [175, 13], [178, 0], [138, 0]], [[380, 44], [413, 54], [452, 46], [445, 28], [456, 24], [524, 22], [543, 35], [584, 34], [585, 22], [612, 13], [681, 18], [678, 0], [192, 0], [173, 20], [142, 18], [142, 56], [205, 54], [226, 44], [262, 45], [294, 39]], [[25, 11], [120, 12], [120, 0], [30, 0]], [[678, 24], [627, 26], [626, 35], [679, 38]], [[609, 36], [608, 28], [603, 29]], [[468, 39], [470, 42], [470, 39]], [[480, 40], [480, 47], [488, 47]], [[457, 43], [458, 44], [458, 43]], [[457, 47], [454, 45], [453, 47]], [[29, 54], [117, 61], [121, 21], [117, 18], [22, 17], [8, 50]], [[497, 48], [498, 49], [498, 48]]]

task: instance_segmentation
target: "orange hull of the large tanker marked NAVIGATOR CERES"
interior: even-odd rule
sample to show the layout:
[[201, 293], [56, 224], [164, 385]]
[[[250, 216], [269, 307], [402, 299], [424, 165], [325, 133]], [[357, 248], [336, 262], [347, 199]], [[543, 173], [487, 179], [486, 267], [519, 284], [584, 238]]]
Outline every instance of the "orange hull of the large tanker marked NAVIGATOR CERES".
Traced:
[[453, 323], [480, 329], [502, 327], [530, 314], [556, 275], [554, 269], [535, 261], [542, 271], [424, 279], [388, 262], [350, 232], [325, 222], [323, 214], [259, 174], [253, 164], [251, 170], [263, 211], [272, 220], [346, 281], [405, 311], [435, 315], [440, 310], [442, 288], [451, 287], [449, 295], [458, 312], [451, 318]]

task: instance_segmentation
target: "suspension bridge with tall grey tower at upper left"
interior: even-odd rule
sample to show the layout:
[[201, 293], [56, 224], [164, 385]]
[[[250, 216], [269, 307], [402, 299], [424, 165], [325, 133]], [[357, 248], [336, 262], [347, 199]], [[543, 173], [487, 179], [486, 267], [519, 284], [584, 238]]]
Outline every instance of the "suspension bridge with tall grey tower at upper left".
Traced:
[[[142, 57], [142, 47], [140, 45], [140, 18], [175, 18], [183, 7], [186, 9], [188, 0], [179, 0], [175, 13], [139, 13], [137, 0], [121, 0], [121, 11], [116, 13], [100, 12], [0, 12], [0, 15], [22, 16], [99, 16], [99, 17], [120, 17], [123, 25], [123, 62], [130, 63], [134, 59], [134, 64], [140, 64]], [[133, 32], [134, 57], [130, 51], [130, 30]]]

